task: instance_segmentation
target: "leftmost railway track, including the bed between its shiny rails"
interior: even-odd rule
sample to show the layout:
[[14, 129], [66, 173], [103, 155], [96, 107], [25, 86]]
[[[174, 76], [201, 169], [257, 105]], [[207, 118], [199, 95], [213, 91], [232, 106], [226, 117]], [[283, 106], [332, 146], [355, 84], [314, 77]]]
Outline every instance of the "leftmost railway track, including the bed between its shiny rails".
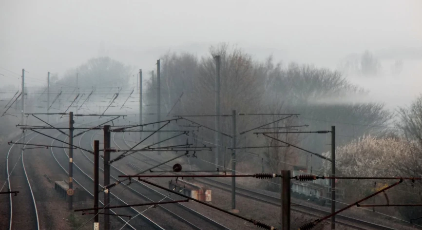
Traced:
[[[38, 135], [34, 135], [34, 132], [24, 134], [18, 141], [22, 140], [24, 143], [29, 143]], [[25, 137], [30, 137], [30, 139], [25, 142]], [[26, 173], [24, 152], [23, 150], [19, 151], [15, 144], [12, 144], [7, 152], [6, 172], [8, 190], [19, 191], [19, 196], [16, 198], [12, 198], [12, 194], [9, 194], [9, 230], [39, 230], [37, 204]]]

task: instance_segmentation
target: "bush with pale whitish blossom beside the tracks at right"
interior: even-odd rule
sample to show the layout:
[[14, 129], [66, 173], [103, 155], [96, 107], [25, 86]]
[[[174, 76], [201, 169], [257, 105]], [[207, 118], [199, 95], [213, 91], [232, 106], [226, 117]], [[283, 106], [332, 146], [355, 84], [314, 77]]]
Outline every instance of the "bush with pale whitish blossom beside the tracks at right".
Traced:
[[[406, 165], [414, 161], [412, 151], [416, 143], [400, 137], [363, 136], [345, 146], [336, 149], [337, 176], [363, 177], [399, 177], [415, 176]], [[330, 157], [331, 153], [323, 153]], [[324, 163], [324, 172], [329, 175], [331, 163]], [[350, 180], [339, 179], [337, 187], [345, 189], [345, 201], [354, 202], [373, 192], [394, 183], [395, 180]], [[420, 203], [420, 183], [404, 181], [386, 192], [390, 203]], [[386, 204], [386, 199], [379, 194], [367, 203]], [[403, 218], [415, 218], [416, 210], [412, 207], [383, 209], [384, 213], [400, 214]], [[417, 212], [420, 212], [417, 211]]]

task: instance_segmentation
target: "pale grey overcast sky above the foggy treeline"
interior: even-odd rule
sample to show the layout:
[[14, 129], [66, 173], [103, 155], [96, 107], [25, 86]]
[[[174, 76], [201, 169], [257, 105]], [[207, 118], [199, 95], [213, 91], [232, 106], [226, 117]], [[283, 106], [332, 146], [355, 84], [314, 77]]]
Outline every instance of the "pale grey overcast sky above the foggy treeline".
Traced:
[[1, 0], [0, 34], [3, 85], [19, 82], [6, 70], [42, 85], [98, 55], [152, 70], [168, 50], [219, 42], [335, 68], [365, 49], [421, 48], [422, 0]]

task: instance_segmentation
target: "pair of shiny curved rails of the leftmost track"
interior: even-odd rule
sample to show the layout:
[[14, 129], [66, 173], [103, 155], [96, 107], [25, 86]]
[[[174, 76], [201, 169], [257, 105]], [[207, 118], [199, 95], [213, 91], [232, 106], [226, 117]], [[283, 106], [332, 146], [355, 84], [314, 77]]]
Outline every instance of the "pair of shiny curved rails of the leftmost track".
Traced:
[[[18, 139], [21, 140], [22, 138], [24, 139], [26, 136], [33, 134], [34, 132], [31, 132], [29, 134], [24, 134], [24, 136], [20, 137]], [[39, 134], [33, 136], [31, 139], [29, 139], [26, 143], [29, 143], [32, 139], [34, 139], [36, 136], [38, 136]], [[11, 173], [9, 172], [9, 156], [10, 156], [10, 152], [12, 150], [12, 148], [15, 146], [15, 144], [12, 144], [12, 146], [9, 148], [9, 151], [7, 152], [7, 156], [6, 156], [6, 171], [7, 171], [7, 183], [8, 183], [8, 189], [9, 191], [11, 190], [11, 186], [10, 186], [10, 175]], [[26, 144], [23, 146], [23, 148], [25, 148]], [[23, 171], [25, 173], [25, 178], [26, 178], [26, 182], [28, 183], [29, 186], [29, 190], [31, 191], [31, 196], [32, 196], [32, 201], [34, 204], [34, 209], [35, 209], [35, 215], [37, 217], [37, 230], [39, 230], [39, 219], [38, 219], [38, 211], [37, 211], [37, 204], [35, 202], [35, 197], [34, 197], [34, 192], [32, 191], [31, 188], [31, 183], [29, 182], [29, 178], [28, 178], [28, 174], [26, 173], [26, 169], [25, 169], [25, 164], [23, 162], [23, 150], [21, 152], [21, 162], [22, 162], [22, 167], [23, 167]], [[13, 170], [13, 169], [12, 169]], [[13, 202], [12, 202], [12, 194], [9, 194], [9, 200], [10, 200], [10, 219], [9, 219], [9, 230], [12, 230], [12, 223], [13, 223]]]

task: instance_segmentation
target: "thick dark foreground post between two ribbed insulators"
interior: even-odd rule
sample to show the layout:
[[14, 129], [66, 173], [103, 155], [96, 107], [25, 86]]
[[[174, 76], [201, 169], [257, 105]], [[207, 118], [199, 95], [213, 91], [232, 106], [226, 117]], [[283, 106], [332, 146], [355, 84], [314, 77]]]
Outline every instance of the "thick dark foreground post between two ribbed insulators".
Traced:
[[281, 229], [290, 230], [290, 171], [282, 170]]

